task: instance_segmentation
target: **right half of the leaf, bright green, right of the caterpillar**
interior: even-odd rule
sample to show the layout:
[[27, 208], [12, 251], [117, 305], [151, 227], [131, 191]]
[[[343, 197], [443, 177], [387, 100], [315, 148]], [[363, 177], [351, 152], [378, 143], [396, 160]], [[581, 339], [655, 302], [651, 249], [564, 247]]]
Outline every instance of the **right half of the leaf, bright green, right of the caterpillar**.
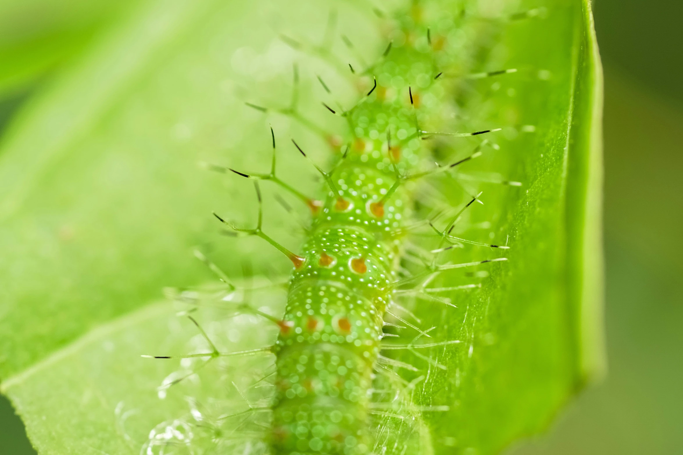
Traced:
[[[488, 209], [478, 208], [473, 220], [505, 220], [493, 243], [507, 241], [509, 261], [492, 269], [482, 293], [450, 295], [459, 308], [447, 313], [456, 321], [448, 338], [461, 343], [441, 355], [434, 350], [448, 370], [434, 368], [421, 391], [423, 405], [451, 406], [428, 415], [441, 453], [497, 453], [544, 430], [605, 369], [602, 68], [589, 3], [556, 2], [544, 20], [512, 25], [502, 40], [506, 67], [529, 65], [547, 80], [503, 83], [492, 96], [501, 122], [515, 108], [535, 132], [501, 143], [512, 159], [507, 170], [501, 162], [496, 168], [522, 186], [493, 202], [484, 194]], [[516, 102], [505, 89], [514, 89]], [[462, 261], [482, 259], [480, 250], [471, 254]], [[417, 312], [425, 327], [443, 327], [444, 314]], [[418, 361], [410, 353], [399, 358]]]

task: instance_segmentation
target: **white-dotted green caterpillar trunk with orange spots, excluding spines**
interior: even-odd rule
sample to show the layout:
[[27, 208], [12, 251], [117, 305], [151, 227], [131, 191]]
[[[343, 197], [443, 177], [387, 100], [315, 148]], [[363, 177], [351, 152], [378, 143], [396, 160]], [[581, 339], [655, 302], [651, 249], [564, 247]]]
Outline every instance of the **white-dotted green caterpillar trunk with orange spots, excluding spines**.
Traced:
[[[411, 158], [423, 158], [426, 148], [427, 119], [418, 116], [417, 91], [413, 94], [410, 84], [430, 81], [420, 84], [428, 93], [443, 72], [434, 53], [419, 49], [417, 37], [431, 42], [428, 24], [410, 22], [401, 31], [413, 42], [387, 47], [367, 69], [393, 84], [378, 90], [374, 80], [367, 96], [343, 113], [355, 146], [326, 175], [329, 192], [322, 211], [301, 258], [294, 260], [276, 351], [273, 446], [278, 454], [361, 455], [375, 449], [368, 392], [410, 209], [402, 184], [413, 177]], [[402, 133], [393, 145], [392, 130]]]

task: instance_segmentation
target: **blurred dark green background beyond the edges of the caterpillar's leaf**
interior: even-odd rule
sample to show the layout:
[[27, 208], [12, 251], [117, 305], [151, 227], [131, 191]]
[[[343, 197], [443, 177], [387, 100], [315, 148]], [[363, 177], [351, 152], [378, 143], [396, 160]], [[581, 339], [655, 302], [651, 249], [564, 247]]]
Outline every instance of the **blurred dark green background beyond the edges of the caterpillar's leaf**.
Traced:
[[[27, 2], [51, 8], [0, 5], [0, 134], [127, 3]], [[609, 376], [508, 455], [683, 453], [683, 2], [596, 0], [594, 10], [605, 66]], [[28, 82], [11, 66], [27, 52], [44, 55]], [[0, 453], [35, 453], [3, 397]]]

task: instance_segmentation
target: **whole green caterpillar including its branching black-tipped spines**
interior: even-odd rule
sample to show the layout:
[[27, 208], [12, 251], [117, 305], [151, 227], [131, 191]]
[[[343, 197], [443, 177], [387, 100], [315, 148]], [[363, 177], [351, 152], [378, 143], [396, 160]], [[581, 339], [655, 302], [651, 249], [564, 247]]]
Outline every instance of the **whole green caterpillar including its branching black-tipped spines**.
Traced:
[[[273, 347], [234, 354], [270, 356], [272, 366], [265, 368], [254, 383], [273, 387], [259, 398], [247, 398], [240, 392], [249, 402], [249, 409], [225, 411], [212, 420], [199, 410], [206, 403], [191, 400], [192, 417], [160, 424], [150, 433], [143, 453], [433, 452], [430, 432], [421, 415], [442, 409], [421, 406], [413, 400], [415, 384], [426, 378], [413, 375], [419, 368], [393, 359], [391, 352], [410, 350], [430, 368], [444, 370], [430, 350], [460, 341], [430, 338], [434, 327], [425, 329], [409, 321], [410, 305], [431, 304], [440, 309], [454, 306], [449, 299], [423, 292], [428, 282], [447, 270], [506, 260], [487, 250], [479, 261], [458, 263], [453, 258], [444, 259], [445, 252], [462, 244], [491, 249], [507, 246], [455, 237], [454, 226], [464, 210], [478, 200], [478, 194], [465, 192], [462, 203], [457, 205], [449, 201], [425, 202], [428, 198], [423, 196], [426, 190], [421, 186], [423, 181], [448, 175], [457, 166], [477, 158], [487, 147], [497, 147], [485, 139], [497, 131], [494, 126], [482, 125], [462, 132], [453, 121], [458, 111], [454, 97], [462, 76], [481, 78], [514, 72], [471, 74], [473, 55], [480, 49], [466, 49], [457, 42], [458, 35], [453, 31], [464, 27], [468, 12], [479, 7], [475, 0], [410, 1], [383, 18], [386, 47], [376, 62], [365, 68], [359, 68], [358, 63], [355, 68], [348, 64], [348, 75], [362, 90], [359, 100], [348, 109], [322, 103], [321, 111], [343, 117], [346, 128], [335, 136], [323, 134], [335, 151], [335, 161], [331, 171], [318, 168], [324, 179], [320, 200], [304, 196], [275, 177], [276, 142], [279, 147], [285, 142], [277, 128], [270, 130], [274, 153], [270, 174], [214, 166], [255, 180], [259, 203], [258, 181], [271, 180], [302, 199], [313, 214], [298, 254], [264, 233], [261, 207], [255, 229], [242, 229], [216, 215], [231, 232], [262, 237], [292, 261], [294, 271], [288, 281], [283, 314], [273, 314], [260, 304], [252, 306], [250, 302], [258, 298], [257, 293], [247, 297], [247, 291], [237, 289], [208, 261], [225, 285], [208, 294], [191, 291], [178, 296], [192, 304], [207, 300], [236, 304], [235, 314], [249, 314], [272, 323], [277, 329]], [[342, 40], [352, 48], [346, 35]], [[297, 42], [289, 44], [303, 47]], [[469, 44], [475, 47], [475, 43]], [[318, 80], [330, 93], [320, 76]], [[245, 108], [268, 111], [268, 107], [252, 102], [247, 102]], [[281, 113], [296, 117], [293, 110]], [[456, 148], [451, 142], [454, 137], [470, 137], [472, 141]], [[304, 143], [296, 138], [287, 142], [309, 158]], [[433, 156], [445, 164], [434, 166]], [[432, 237], [408, 241], [416, 231], [431, 233]], [[206, 261], [204, 256], [201, 259]], [[463, 288], [472, 287], [477, 284]], [[419, 298], [401, 306], [400, 295]], [[170, 385], [191, 380], [204, 364], [222, 355], [212, 342], [211, 332], [197, 326], [206, 341], [204, 349], [185, 356], [182, 372], [164, 381], [164, 394]], [[392, 340], [396, 342], [392, 344]], [[403, 370], [409, 374], [403, 375]], [[238, 420], [234, 420], [236, 415]], [[247, 421], [249, 424], [245, 424]], [[208, 427], [212, 428], [208, 437], [213, 441], [211, 450], [197, 442], [198, 428]], [[240, 436], [236, 436], [238, 433]]]

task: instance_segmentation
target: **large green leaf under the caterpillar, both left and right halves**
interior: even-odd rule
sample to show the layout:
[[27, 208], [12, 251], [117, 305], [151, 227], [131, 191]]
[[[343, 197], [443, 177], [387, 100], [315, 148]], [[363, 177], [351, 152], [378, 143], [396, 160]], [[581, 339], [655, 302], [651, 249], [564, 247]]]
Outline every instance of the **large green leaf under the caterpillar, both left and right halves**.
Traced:
[[[357, 18], [348, 26], [359, 41], [378, 47], [367, 32], [372, 18], [342, 6]], [[497, 90], [491, 80], [480, 87], [494, 106], [490, 119], [518, 127], [516, 138], [507, 130], [507, 157], [496, 166], [522, 187], [487, 190], [475, 215], [503, 220], [494, 236], [504, 243], [510, 234], [510, 261], [491, 269], [481, 293], [451, 296], [460, 312], [449, 314], [452, 322], [419, 314], [461, 340], [439, 357], [447, 373], [430, 370], [431, 388], [416, 397], [449, 406], [427, 417], [437, 452], [497, 452], [542, 429], [602, 368], [600, 65], [587, 3], [546, 7], [545, 17], [514, 21], [501, 34], [498, 63], [525, 71]], [[197, 166], [267, 165], [264, 117], [244, 102], [288, 97], [281, 80], [290, 77], [291, 51], [277, 44], [273, 17], [285, 31], [319, 37], [327, 14], [294, 1], [268, 8], [150, 1], [39, 93], [5, 136], [0, 377], [41, 454], [138, 453], [150, 429], [186, 413], [178, 394], [156, 395], [174, 366], [139, 355], [184, 352], [196, 334], [168, 304], [152, 303], [165, 286], [209, 278], [191, 259], [193, 246], [230, 276], [244, 261], [270, 275], [287, 269], [257, 241], [218, 235], [210, 212], [249, 224], [253, 190]], [[287, 121], [274, 127], [301, 132]], [[288, 181], [314, 188], [300, 162], [281, 162]], [[291, 224], [277, 210], [266, 211], [271, 226]], [[283, 229], [281, 237], [296, 238]], [[231, 349], [273, 336], [250, 325], [229, 330], [239, 338]], [[228, 374], [239, 383], [266, 360], [242, 359]]]

